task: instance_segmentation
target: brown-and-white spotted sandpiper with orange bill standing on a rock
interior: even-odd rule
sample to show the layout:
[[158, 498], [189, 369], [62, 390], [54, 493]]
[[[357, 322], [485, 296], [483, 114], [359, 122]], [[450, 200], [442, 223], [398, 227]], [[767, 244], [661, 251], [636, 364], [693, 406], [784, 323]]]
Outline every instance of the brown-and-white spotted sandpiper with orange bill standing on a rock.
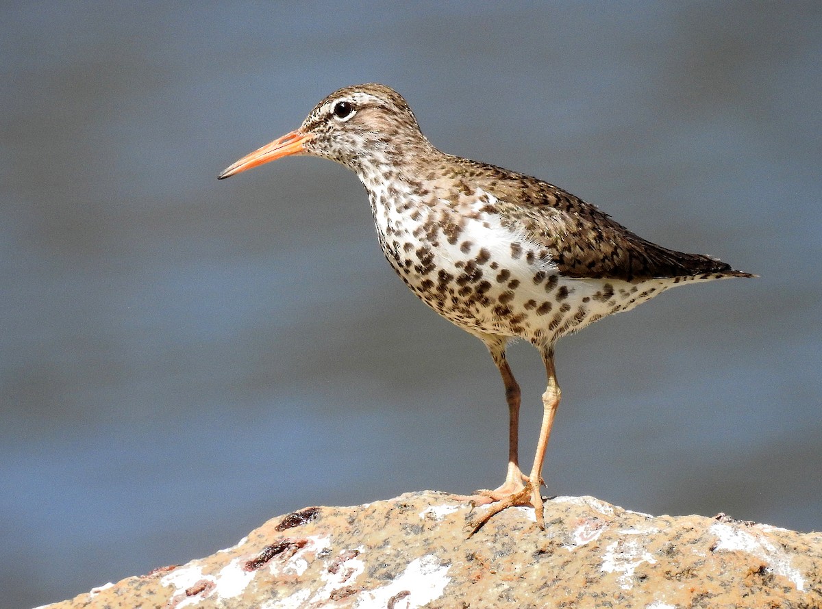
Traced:
[[[561, 399], [554, 346], [610, 314], [674, 286], [756, 277], [707, 255], [644, 240], [556, 185], [437, 149], [394, 89], [368, 83], [322, 99], [298, 129], [240, 158], [220, 180], [287, 156], [330, 159], [367, 191], [381, 250], [411, 291], [483, 341], [508, 406], [508, 465], [475, 529], [510, 506], [533, 506], [545, 528], [543, 460]], [[539, 351], [547, 373], [543, 417], [529, 474], [520, 469], [520, 386], [510, 341]]]

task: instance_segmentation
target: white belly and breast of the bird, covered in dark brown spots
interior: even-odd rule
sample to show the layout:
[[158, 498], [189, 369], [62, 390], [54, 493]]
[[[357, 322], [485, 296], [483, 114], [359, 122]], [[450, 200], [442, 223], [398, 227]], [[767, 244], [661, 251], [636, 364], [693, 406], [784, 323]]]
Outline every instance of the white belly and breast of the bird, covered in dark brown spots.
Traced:
[[562, 277], [546, 247], [480, 211], [487, 196], [472, 197], [459, 213], [413, 199], [401, 208], [372, 201], [382, 250], [399, 277], [469, 332], [550, 343], [672, 285]]

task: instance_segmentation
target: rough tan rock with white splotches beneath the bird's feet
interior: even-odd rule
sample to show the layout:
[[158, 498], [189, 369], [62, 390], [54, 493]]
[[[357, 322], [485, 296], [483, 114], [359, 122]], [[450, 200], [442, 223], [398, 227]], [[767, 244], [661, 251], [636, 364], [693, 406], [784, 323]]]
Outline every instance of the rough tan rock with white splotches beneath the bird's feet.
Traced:
[[501, 512], [436, 492], [269, 520], [234, 547], [69, 607], [822, 607], [822, 533], [653, 517], [593, 497]]

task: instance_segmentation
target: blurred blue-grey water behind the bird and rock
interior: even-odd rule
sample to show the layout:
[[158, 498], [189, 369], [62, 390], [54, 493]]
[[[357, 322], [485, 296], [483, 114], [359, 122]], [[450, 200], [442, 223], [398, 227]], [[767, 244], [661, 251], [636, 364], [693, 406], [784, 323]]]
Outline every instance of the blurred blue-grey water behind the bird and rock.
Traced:
[[[340, 86], [761, 278], [557, 349], [551, 494], [822, 523], [822, 4], [0, 9], [0, 589], [31, 607], [309, 505], [501, 483], [501, 381], [334, 163], [218, 182]], [[527, 345], [530, 463], [544, 389]]]

